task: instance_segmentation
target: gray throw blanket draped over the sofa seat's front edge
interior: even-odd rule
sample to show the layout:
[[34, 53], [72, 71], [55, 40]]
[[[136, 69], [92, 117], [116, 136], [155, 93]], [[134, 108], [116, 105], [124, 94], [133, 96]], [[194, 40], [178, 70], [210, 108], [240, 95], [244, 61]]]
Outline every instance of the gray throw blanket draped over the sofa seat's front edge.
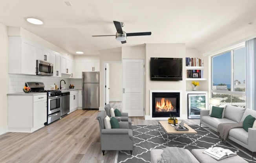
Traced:
[[219, 139], [226, 142], [227, 137], [229, 136], [229, 131], [234, 128], [243, 128], [243, 122], [240, 123], [220, 123], [218, 125], [217, 134]]

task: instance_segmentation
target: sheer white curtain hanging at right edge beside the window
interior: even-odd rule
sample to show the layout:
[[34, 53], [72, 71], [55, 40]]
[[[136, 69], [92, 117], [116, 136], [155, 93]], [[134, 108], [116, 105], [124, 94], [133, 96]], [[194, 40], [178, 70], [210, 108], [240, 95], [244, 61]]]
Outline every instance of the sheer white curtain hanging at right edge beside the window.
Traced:
[[245, 42], [245, 106], [256, 110], [256, 38]]

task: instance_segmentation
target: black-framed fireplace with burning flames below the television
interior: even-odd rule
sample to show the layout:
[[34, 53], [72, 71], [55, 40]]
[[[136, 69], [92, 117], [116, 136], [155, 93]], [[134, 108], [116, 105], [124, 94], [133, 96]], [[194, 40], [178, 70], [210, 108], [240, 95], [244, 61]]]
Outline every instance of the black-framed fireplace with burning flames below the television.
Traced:
[[180, 92], [152, 92], [152, 117], [179, 117]]

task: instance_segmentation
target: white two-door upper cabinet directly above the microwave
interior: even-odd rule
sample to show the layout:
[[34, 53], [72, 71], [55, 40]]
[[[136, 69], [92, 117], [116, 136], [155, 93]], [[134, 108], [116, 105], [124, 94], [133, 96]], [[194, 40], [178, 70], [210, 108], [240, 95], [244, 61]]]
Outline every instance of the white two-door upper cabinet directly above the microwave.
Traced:
[[52, 63], [51, 62], [51, 54], [52, 54], [52, 51], [50, 49], [37, 44], [36, 60], [41, 60], [41, 61]]

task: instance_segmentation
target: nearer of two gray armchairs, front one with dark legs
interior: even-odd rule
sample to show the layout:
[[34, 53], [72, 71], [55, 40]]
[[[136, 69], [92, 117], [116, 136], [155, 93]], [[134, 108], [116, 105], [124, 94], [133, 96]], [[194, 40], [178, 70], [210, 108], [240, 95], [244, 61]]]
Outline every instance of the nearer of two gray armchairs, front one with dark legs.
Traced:
[[105, 111], [101, 111], [97, 115], [101, 134], [101, 150], [103, 155], [105, 150], [130, 150], [132, 155], [133, 134], [132, 130], [129, 129], [128, 122], [119, 122], [120, 129], [105, 129], [105, 117]]

